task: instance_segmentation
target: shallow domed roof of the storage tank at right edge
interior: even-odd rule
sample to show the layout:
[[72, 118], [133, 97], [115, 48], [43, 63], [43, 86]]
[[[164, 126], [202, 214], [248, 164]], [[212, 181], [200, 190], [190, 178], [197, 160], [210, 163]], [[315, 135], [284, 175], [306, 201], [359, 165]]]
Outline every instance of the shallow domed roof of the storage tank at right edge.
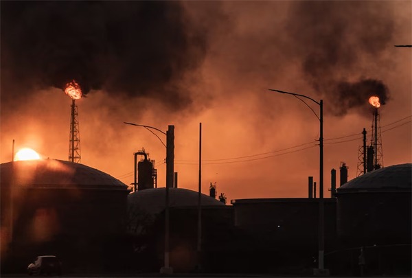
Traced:
[[352, 181], [348, 181], [336, 190], [338, 193], [359, 191], [411, 192], [411, 188], [412, 163], [404, 163], [367, 172]]

